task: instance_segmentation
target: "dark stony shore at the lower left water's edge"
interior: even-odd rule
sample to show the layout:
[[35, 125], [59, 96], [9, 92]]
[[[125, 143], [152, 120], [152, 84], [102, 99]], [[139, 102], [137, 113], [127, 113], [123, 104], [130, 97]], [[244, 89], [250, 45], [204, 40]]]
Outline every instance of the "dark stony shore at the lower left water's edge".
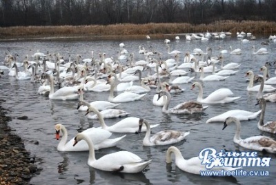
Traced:
[[39, 159], [25, 149], [23, 140], [8, 126], [8, 110], [2, 108], [0, 99], [0, 184], [30, 184], [39, 175]]

